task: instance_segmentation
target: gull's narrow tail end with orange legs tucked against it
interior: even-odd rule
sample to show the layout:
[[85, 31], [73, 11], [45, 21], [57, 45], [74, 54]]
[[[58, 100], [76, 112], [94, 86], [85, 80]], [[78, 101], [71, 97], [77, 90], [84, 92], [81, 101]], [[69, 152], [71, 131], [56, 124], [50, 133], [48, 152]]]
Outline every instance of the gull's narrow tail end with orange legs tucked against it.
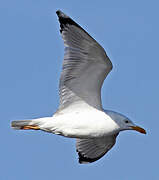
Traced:
[[19, 130], [27, 130], [27, 129], [40, 130], [37, 123], [35, 123], [33, 120], [12, 121], [11, 127], [13, 129], [19, 129]]

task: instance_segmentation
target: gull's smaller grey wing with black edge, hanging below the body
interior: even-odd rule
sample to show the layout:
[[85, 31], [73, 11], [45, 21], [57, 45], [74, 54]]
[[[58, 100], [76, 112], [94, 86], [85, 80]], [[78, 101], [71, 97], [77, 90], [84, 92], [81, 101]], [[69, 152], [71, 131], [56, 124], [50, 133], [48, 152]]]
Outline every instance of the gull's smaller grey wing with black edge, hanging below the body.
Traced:
[[103, 157], [115, 144], [117, 135], [96, 139], [76, 139], [79, 163], [92, 163]]

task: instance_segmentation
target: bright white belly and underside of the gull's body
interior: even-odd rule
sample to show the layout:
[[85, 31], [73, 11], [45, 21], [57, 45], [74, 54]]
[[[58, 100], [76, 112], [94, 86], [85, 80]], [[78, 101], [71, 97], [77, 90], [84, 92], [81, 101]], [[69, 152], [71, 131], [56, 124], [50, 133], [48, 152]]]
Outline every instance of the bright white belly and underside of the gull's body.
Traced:
[[104, 112], [96, 110], [56, 113], [41, 123], [42, 130], [73, 138], [94, 138], [115, 134], [118, 125]]

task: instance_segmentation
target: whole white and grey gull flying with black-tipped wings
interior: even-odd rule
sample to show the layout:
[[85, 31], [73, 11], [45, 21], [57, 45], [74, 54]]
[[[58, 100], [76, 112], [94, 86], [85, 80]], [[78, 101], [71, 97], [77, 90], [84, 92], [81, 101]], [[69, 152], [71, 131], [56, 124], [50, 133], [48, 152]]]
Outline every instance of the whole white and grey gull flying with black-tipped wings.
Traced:
[[65, 45], [59, 108], [52, 117], [12, 121], [11, 126], [76, 138], [79, 163], [92, 163], [113, 147], [119, 132], [146, 131], [121, 113], [103, 109], [101, 87], [112, 63], [80, 25], [60, 10], [56, 14]]

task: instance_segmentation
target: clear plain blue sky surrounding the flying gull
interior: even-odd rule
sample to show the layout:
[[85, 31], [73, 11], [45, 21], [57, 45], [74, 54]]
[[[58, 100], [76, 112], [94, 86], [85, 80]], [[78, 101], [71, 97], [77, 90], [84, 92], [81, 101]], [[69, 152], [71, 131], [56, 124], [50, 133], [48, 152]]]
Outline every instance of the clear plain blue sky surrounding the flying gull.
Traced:
[[[99, 161], [78, 164], [75, 140], [15, 131], [12, 120], [51, 116], [58, 107], [64, 45], [56, 10], [79, 23], [114, 65], [103, 106], [147, 135], [122, 132]], [[159, 1], [0, 1], [0, 179], [159, 179]]]

